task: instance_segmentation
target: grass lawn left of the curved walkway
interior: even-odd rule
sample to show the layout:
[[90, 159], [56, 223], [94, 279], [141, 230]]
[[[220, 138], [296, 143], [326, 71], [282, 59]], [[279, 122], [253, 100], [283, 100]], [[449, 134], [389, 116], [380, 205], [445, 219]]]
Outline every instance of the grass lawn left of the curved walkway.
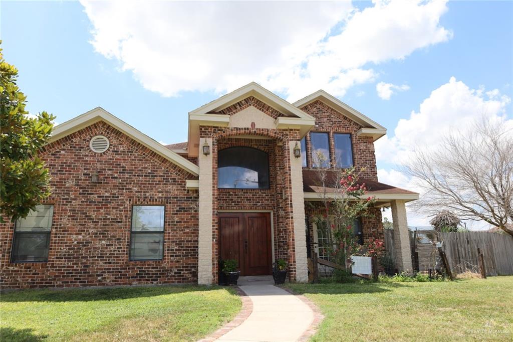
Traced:
[[0, 340], [192, 341], [241, 306], [220, 287], [24, 290], [0, 297]]

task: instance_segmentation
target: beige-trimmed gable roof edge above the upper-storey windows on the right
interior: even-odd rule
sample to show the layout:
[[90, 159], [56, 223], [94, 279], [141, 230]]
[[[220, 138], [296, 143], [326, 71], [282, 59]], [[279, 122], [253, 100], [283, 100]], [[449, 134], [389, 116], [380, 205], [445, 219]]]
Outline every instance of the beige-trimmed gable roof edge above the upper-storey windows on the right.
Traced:
[[343, 113], [349, 119], [359, 123], [363, 128], [358, 132], [359, 136], [372, 137], [377, 140], [386, 134], [386, 128], [366, 117], [358, 110], [348, 106], [344, 102], [340, 101], [336, 97], [328, 94], [324, 90], [318, 90], [308, 95], [307, 97], [293, 103], [294, 106], [301, 108], [314, 101], [321, 101], [331, 108]]

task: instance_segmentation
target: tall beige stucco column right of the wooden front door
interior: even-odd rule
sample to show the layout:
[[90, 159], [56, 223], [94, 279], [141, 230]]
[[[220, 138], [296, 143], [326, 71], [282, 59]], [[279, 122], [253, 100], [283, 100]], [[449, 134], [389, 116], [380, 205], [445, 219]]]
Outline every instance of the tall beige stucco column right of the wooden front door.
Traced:
[[305, 198], [303, 194], [303, 165], [301, 158], [294, 157], [294, 146], [289, 142], [290, 180], [292, 183], [292, 219], [294, 222], [295, 280], [308, 281], [306, 255]]

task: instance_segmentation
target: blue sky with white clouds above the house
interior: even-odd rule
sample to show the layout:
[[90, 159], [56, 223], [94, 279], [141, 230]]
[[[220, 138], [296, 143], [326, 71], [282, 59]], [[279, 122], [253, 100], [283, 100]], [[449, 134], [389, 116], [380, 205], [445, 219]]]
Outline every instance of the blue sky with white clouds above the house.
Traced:
[[323, 88], [388, 128], [380, 180], [405, 187], [394, 155], [430, 144], [434, 124], [513, 119], [512, 2], [135, 7], [2, 1], [2, 48], [28, 109], [62, 123], [101, 106], [174, 143], [190, 110], [251, 80], [289, 101]]

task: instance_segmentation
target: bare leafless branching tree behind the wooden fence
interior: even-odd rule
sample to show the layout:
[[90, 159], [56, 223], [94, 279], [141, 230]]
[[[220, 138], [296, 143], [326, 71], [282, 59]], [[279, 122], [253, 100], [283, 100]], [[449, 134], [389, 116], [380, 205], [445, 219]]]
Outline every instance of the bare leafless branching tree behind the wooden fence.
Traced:
[[424, 190], [413, 204], [419, 212], [447, 209], [513, 236], [513, 131], [504, 122], [453, 130], [436, 150], [417, 150], [403, 172]]

